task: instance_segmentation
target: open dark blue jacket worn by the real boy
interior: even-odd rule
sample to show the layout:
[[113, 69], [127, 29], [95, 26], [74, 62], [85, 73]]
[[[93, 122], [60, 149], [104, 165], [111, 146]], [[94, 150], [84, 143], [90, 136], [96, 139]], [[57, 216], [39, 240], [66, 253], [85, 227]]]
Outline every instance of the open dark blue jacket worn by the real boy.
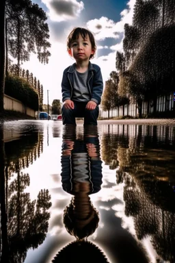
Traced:
[[[75, 65], [75, 64], [74, 64]], [[73, 84], [73, 73], [75, 66], [68, 66], [64, 70], [62, 77], [62, 101], [66, 99], [72, 99]], [[88, 75], [87, 75], [87, 88], [90, 92], [91, 101], [95, 101], [98, 105], [101, 101], [103, 94], [103, 78], [101, 75], [100, 67], [96, 64], [89, 62]]]

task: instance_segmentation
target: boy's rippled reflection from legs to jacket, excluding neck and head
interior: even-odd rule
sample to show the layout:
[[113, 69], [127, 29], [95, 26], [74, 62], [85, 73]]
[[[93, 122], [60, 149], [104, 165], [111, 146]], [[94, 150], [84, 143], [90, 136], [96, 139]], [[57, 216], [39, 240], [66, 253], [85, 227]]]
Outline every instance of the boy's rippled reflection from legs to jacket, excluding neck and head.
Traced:
[[[84, 137], [76, 138], [76, 127], [67, 129], [65, 126], [62, 146], [62, 187], [72, 195], [74, 181], [90, 182], [91, 188], [88, 194], [100, 190], [102, 161], [96, 128], [90, 125], [91, 134], [85, 128]], [[70, 129], [72, 129], [71, 132]]]

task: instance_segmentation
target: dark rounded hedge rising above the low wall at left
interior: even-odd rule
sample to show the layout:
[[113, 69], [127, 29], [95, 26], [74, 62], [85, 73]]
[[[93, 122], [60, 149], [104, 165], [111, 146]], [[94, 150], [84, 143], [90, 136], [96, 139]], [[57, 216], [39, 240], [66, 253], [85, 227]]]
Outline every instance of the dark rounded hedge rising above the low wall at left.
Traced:
[[21, 77], [9, 75], [5, 78], [5, 95], [18, 99], [32, 110], [38, 110], [38, 92]]

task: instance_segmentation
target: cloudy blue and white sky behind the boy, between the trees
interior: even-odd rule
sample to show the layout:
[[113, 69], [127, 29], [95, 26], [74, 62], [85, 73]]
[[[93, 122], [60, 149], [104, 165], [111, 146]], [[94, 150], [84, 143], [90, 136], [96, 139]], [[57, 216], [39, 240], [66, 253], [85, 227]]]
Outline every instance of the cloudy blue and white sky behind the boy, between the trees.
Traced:
[[[132, 23], [135, 0], [32, 0], [48, 16], [51, 42], [49, 64], [38, 62], [36, 55], [23, 68], [40, 80], [44, 89], [44, 103], [62, 101], [61, 81], [64, 68], [75, 61], [66, 51], [66, 38], [74, 27], [90, 29], [96, 39], [97, 52], [92, 63], [100, 66], [103, 81], [116, 70], [116, 51], [122, 51], [124, 24]], [[49, 90], [49, 92], [47, 92]]]

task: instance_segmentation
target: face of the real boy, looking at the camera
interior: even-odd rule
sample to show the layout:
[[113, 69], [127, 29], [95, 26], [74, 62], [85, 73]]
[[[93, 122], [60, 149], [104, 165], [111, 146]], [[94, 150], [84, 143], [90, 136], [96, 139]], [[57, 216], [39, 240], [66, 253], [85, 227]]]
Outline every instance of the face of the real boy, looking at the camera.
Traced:
[[68, 53], [76, 61], [89, 60], [90, 55], [94, 54], [89, 36], [83, 39], [80, 34], [78, 39], [72, 41]]

